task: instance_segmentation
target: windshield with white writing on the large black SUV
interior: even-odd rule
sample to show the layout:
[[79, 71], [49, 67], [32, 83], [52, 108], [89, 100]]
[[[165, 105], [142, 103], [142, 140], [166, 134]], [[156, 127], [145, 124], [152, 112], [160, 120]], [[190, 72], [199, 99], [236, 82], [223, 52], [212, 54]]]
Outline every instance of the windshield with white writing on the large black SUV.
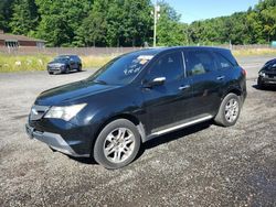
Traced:
[[88, 80], [107, 85], [129, 84], [152, 57], [138, 54], [119, 56], [88, 77]]

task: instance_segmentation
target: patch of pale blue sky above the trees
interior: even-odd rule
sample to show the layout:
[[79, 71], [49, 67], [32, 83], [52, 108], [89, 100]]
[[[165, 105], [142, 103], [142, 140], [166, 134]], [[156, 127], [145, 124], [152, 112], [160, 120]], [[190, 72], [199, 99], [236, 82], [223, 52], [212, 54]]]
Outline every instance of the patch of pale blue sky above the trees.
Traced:
[[250, 7], [258, 3], [258, 0], [166, 0], [166, 2], [181, 14], [181, 22], [191, 23], [247, 11]]

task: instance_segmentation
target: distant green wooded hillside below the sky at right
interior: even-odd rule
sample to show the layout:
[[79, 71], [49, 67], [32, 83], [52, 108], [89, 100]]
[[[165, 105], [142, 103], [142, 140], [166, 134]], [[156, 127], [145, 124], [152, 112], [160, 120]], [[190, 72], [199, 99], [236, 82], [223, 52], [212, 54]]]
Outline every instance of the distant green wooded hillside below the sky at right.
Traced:
[[266, 44], [276, 40], [276, 1], [263, 0], [247, 12], [197, 21], [189, 26], [190, 40], [198, 44]]

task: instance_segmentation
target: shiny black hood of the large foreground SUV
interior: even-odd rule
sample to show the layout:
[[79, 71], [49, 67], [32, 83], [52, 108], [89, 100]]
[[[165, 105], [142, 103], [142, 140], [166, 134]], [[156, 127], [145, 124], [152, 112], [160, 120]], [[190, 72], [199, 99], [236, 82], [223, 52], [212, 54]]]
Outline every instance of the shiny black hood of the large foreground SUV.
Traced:
[[50, 90], [43, 91], [35, 100], [35, 105], [40, 106], [63, 106], [77, 103], [89, 96], [108, 91], [119, 86], [100, 85], [93, 81], [81, 80]]

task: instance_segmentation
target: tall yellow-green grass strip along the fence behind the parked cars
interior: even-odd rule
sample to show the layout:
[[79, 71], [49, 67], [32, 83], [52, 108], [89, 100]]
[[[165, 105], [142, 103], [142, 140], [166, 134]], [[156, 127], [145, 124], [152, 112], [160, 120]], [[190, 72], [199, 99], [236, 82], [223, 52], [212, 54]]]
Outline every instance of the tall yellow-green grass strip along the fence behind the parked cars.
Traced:
[[[275, 55], [276, 48], [252, 48], [252, 50], [235, 50], [234, 56], [258, 56], [258, 55]], [[118, 54], [117, 54], [118, 55]], [[104, 56], [81, 56], [83, 68], [100, 67], [116, 55]], [[7, 55], [0, 53], [0, 73], [10, 72], [31, 72], [45, 70], [46, 64], [53, 59], [51, 55]]]

